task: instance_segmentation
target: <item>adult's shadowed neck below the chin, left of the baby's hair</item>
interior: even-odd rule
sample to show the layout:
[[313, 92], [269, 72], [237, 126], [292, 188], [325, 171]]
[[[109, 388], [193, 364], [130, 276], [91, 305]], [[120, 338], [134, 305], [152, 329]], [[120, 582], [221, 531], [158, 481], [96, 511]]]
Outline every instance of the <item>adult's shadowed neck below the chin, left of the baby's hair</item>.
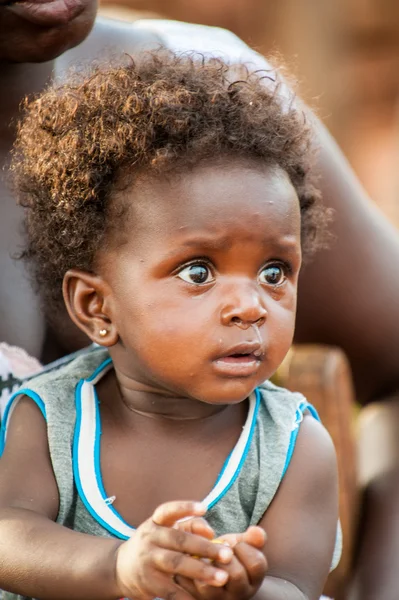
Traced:
[[8, 150], [14, 141], [23, 98], [43, 90], [53, 65], [53, 61], [34, 64], [0, 62], [0, 146], [3, 150]]

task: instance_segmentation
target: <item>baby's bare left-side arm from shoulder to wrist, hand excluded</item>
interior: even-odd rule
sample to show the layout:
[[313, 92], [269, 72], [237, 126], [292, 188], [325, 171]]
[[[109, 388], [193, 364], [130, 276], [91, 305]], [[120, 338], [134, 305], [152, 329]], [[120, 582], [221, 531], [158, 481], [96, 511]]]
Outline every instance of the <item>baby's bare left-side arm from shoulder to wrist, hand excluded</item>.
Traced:
[[22, 399], [0, 460], [0, 589], [38, 598], [94, 598], [97, 591], [99, 598], [116, 597], [119, 542], [55, 524], [58, 505], [45, 421]]

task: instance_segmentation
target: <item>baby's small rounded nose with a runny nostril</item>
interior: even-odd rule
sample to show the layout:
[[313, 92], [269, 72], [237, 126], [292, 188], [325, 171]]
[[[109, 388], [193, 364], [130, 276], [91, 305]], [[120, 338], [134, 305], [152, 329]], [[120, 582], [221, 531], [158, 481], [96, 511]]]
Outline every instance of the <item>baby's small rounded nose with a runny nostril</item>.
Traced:
[[265, 323], [267, 310], [255, 286], [236, 284], [226, 297], [228, 301], [220, 315], [222, 325], [248, 329], [252, 325], [260, 327]]

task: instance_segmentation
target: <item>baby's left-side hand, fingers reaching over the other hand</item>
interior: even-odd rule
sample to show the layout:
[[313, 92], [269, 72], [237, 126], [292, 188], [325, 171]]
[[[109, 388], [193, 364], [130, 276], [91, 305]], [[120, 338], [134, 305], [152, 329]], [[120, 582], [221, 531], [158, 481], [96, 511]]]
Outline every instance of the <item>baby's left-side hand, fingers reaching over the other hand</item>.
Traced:
[[[205, 510], [196, 502], [168, 502], [159, 506], [130, 540], [118, 548], [115, 571], [118, 595], [135, 600], [155, 597], [192, 600], [190, 592], [176, 583], [177, 576], [210, 588], [225, 585], [228, 573], [214, 563], [221, 567], [227, 564], [233, 551], [212, 544], [206, 536], [174, 527], [179, 519], [202, 516]], [[210, 559], [212, 564], [201, 558]]]

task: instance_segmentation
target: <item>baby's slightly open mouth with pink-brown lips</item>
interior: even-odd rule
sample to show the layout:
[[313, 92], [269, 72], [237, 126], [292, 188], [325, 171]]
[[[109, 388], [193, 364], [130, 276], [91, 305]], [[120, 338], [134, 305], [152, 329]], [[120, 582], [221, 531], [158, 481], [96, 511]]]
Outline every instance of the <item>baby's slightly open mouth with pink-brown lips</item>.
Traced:
[[264, 359], [264, 349], [256, 342], [244, 342], [230, 348], [213, 363], [216, 371], [228, 377], [250, 377], [259, 369]]

